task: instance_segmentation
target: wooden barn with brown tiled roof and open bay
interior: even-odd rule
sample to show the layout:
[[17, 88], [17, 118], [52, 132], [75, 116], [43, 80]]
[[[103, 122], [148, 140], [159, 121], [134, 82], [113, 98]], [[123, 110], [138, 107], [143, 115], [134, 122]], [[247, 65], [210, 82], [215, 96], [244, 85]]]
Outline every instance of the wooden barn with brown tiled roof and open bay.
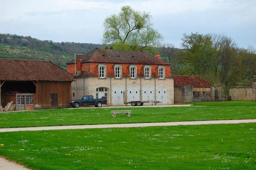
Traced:
[[0, 58], [3, 107], [13, 101], [15, 110], [68, 108], [72, 81], [72, 75], [50, 61]]

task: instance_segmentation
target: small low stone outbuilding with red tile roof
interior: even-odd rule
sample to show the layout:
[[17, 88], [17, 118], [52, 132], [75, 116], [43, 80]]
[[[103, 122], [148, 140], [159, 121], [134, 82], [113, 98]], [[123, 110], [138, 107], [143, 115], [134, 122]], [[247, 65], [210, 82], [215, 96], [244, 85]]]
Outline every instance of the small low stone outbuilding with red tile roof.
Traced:
[[211, 86], [211, 83], [200, 76], [175, 76], [174, 103], [191, 102], [193, 97], [205, 97], [206, 100], [212, 101]]

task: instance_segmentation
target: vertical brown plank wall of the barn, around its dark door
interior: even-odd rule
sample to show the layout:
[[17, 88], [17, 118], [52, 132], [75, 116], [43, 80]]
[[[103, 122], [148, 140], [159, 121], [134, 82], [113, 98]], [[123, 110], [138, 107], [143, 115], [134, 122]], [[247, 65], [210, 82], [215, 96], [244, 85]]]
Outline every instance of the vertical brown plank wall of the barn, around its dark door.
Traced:
[[59, 108], [68, 108], [71, 100], [70, 81], [37, 81], [36, 104], [40, 109], [51, 109], [51, 93], [58, 94]]

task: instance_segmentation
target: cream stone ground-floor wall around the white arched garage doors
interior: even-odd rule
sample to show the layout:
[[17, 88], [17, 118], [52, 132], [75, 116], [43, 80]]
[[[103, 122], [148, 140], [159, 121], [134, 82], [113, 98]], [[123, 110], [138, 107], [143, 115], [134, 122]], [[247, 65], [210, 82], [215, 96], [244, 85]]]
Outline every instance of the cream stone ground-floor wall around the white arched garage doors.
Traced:
[[[163, 90], [163, 93], [167, 95], [167, 102], [162, 102], [159, 104], [174, 104], [174, 87], [173, 87], [173, 78], [165, 78], [164, 80], [158, 78], [144, 79], [139, 77], [137, 79], [131, 79], [124, 77], [122, 79], [115, 79], [114, 77], [108, 77], [105, 79], [100, 79], [99, 77], [75, 77], [76, 82], [72, 82], [72, 99], [80, 98], [84, 95], [93, 95], [94, 98], [97, 97], [97, 89], [104, 88], [107, 89], [107, 98], [108, 105], [125, 105], [124, 100], [121, 99], [123, 94], [116, 96], [115, 89], [119, 88], [122, 92], [126, 92], [126, 95], [129, 96], [129, 89], [138, 89], [135, 90], [137, 93], [134, 96], [138, 96], [140, 101], [146, 101], [147, 96], [146, 89], [151, 93], [151, 98], [153, 101], [159, 101], [162, 97], [158, 97], [160, 94], [160, 88], [166, 88], [166, 91]], [[76, 83], [76, 92], [75, 92], [75, 83]], [[119, 93], [121, 93], [121, 91]], [[76, 93], [76, 97], [75, 97]], [[145, 97], [146, 96], [146, 97]], [[120, 99], [120, 102], [117, 104], [113, 100], [116, 100], [115, 97]], [[129, 98], [129, 97], [128, 97]], [[130, 97], [130, 100], [131, 97]], [[135, 99], [136, 100], [136, 99]], [[127, 100], [129, 101], [129, 99]], [[144, 103], [144, 105], [151, 103]]]

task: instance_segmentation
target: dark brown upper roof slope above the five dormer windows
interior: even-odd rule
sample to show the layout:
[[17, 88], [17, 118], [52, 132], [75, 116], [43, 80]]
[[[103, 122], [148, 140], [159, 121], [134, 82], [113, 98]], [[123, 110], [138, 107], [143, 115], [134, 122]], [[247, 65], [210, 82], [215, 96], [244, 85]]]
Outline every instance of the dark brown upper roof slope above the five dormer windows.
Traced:
[[[116, 63], [116, 64], [144, 64], [144, 65], [170, 65], [143, 51], [126, 51], [114, 49], [95, 49], [83, 56], [81, 63]], [[74, 60], [67, 64], [74, 64]]]

